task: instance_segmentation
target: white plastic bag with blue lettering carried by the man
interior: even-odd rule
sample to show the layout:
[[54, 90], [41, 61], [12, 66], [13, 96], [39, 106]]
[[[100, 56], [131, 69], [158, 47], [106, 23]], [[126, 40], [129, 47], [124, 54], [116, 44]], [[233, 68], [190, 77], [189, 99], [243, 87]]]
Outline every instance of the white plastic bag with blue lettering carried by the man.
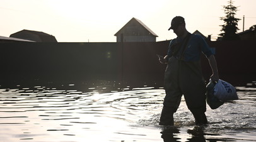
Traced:
[[219, 99], [219, 101], [223, 102], [238, 99], [235, 87], [221, 79], [219, 79], [215, 84], [213, 94]]

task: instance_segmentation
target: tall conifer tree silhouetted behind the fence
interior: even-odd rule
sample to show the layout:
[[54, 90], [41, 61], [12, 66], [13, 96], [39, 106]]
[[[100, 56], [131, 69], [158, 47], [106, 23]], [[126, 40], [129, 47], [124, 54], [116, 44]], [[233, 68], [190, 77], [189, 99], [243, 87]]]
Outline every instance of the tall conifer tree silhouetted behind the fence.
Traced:
[[235, 18], [235, 14], [237, 11], [236, 6], [233, 6], [233, 1], [228, 1], [227, 6], [223, 6], [224, 13], [226, 16], [221, 17], [220, 19], [224, 21], [224, 25], [220, 25], [221, 31], [223, 33], [219, 34], [220, 40], [240, 40], [239, 36], [236, 34], [238, 31], [238, 21], [239, 18]]

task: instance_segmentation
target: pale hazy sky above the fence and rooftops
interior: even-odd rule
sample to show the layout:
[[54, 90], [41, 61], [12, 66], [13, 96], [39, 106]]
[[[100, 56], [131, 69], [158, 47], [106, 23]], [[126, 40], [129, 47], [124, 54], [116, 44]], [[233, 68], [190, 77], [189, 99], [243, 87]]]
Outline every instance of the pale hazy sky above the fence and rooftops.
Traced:
[[[223, 6], [228, 0], [0, 0], [0, 36], [21, 30], [43, 31], [59, 42], [115, 42], [117, 31], [137, 18], [157, 41], [176, 35], [168, 31], [174, 16], [183, 16], [187, 30], [217, 38], [221, 33]], [[234, 0], [239, 32], [256, 25], [256, 0]], [[212, 39], [214, 40], [214, 39]]]

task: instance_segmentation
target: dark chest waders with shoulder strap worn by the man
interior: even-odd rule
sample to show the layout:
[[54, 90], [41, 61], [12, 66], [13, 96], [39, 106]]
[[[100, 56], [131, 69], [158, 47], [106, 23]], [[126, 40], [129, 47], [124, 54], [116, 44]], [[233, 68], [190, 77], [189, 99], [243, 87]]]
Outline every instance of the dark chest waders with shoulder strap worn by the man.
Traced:
[[195, 123], [207, 123], [204, 114], [206, 112], [206, 84], [202, 77], [200, 61], [185, 62], [183, 53], [179, 57], [170, 57], [165, 70], [164, 82], [166, 96], [160, 117], [161, 125], [173, 125], [173, 113], [177, 111], [182, 95], [195, 117]]

